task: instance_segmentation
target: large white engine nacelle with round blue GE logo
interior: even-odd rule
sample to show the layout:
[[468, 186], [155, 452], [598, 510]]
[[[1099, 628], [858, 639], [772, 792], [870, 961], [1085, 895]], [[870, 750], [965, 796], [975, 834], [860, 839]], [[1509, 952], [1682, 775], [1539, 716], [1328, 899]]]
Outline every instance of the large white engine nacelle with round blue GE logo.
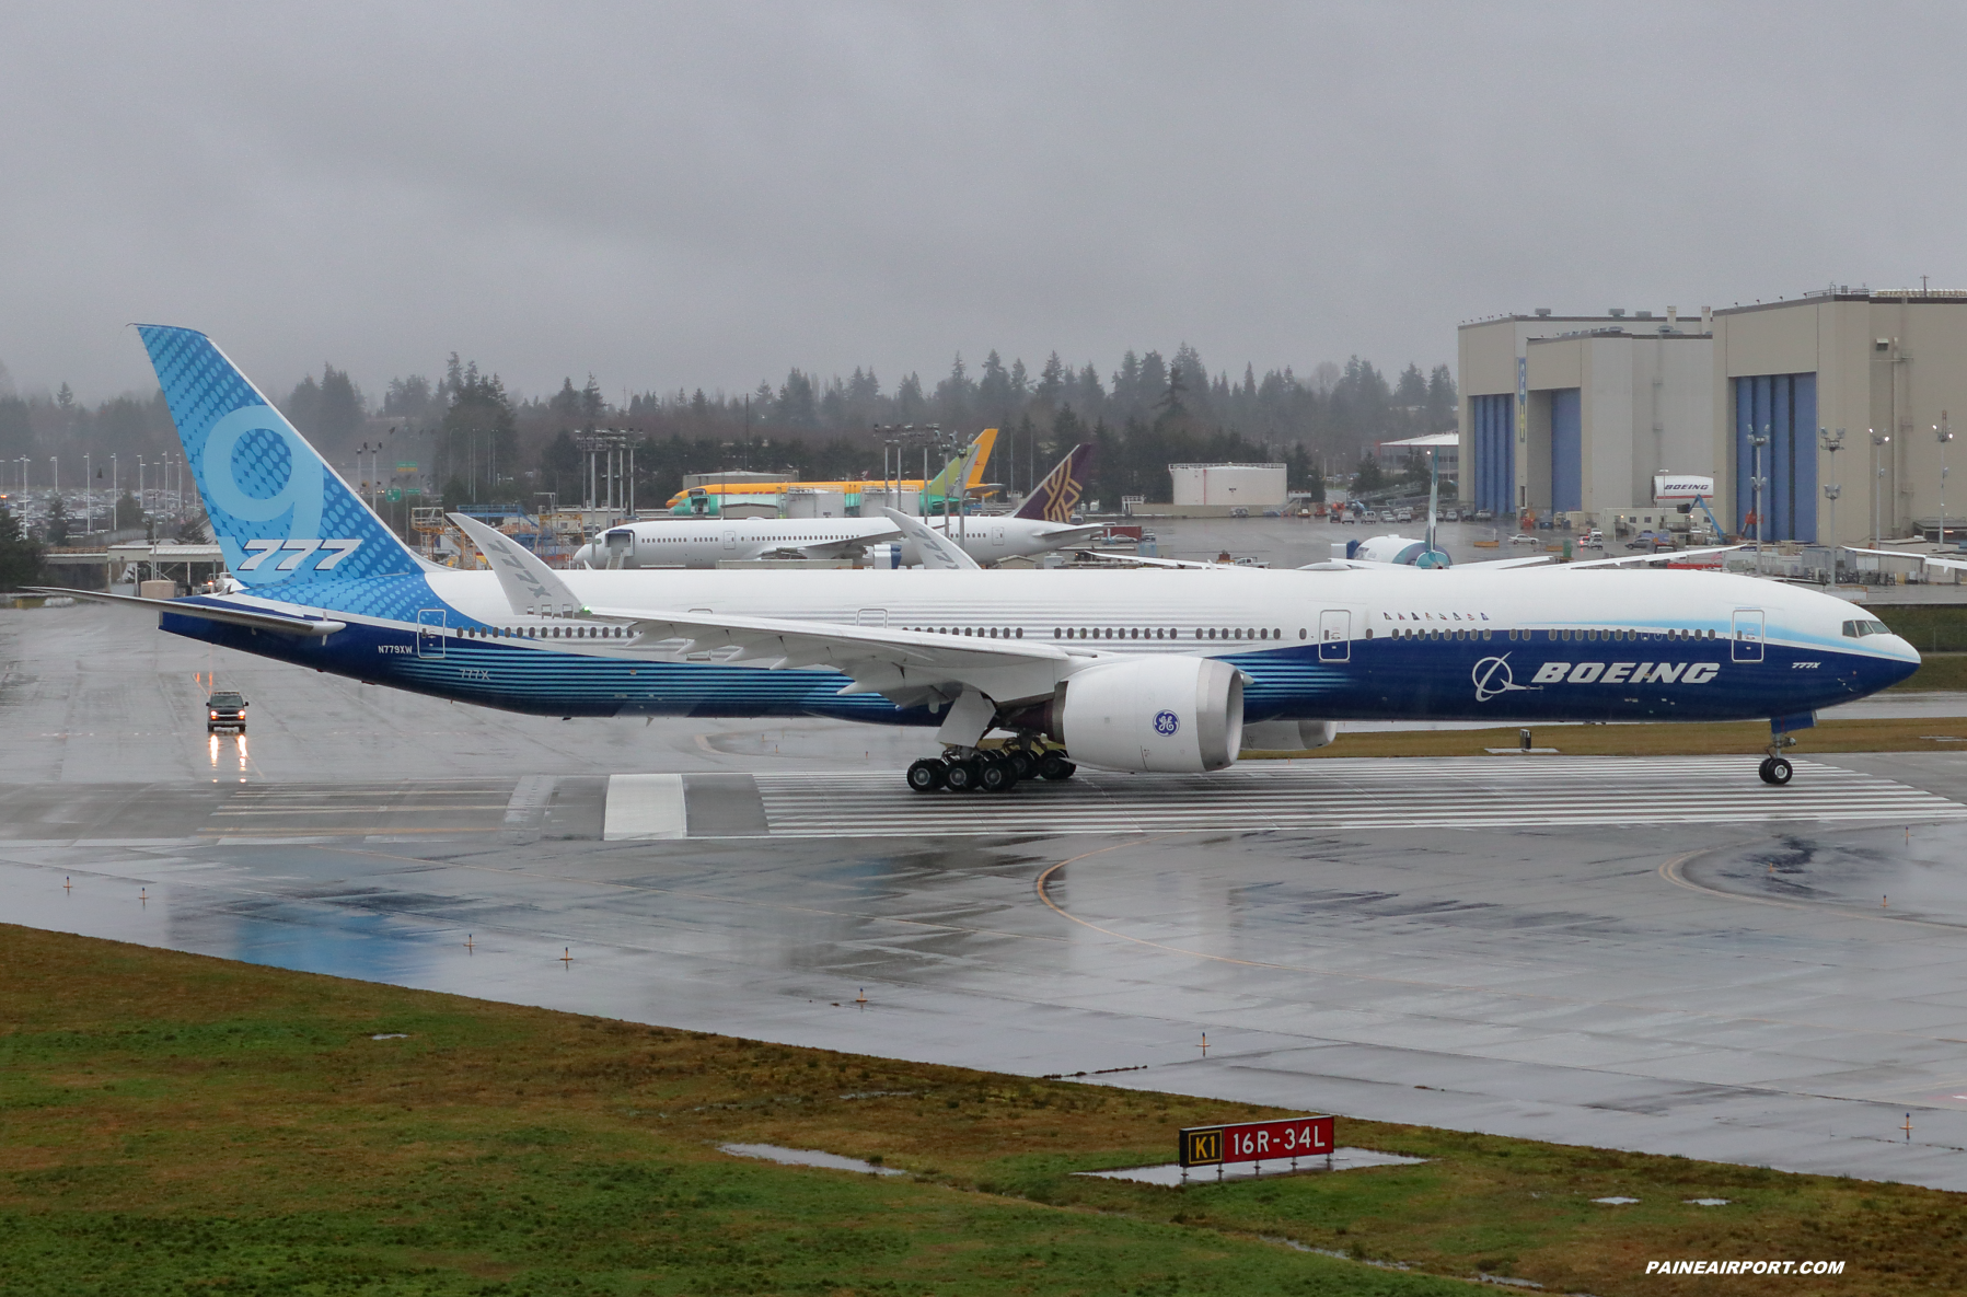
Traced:
[[1200, 773], [1243, 746], [1243, 673], [1214, 657], [1135, 657], [1074, 673], [1044, 709], [1074, 762]]

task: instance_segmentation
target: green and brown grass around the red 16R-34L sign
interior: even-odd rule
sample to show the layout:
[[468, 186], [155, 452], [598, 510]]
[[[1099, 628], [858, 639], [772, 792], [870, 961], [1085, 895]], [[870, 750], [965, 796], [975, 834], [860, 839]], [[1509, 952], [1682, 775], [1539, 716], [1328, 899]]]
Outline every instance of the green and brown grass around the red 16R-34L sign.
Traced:
[[[1642, 1273], [1684, 1256], [1847, 1262], [1731, 1293], [1959, 1291], [1967, 1273], [1961, 1199], [1904, 1185], [1341, 1114], [1343, 1143], [1432, 1161], [1151, 1189], [1070, 1173], [1168, 1161], [1178, 1126], [1265, 1110], [20, 927], [0, 927], [0, 960], [6, 1295], [1404, 1297], [1465, 1293], [1477, 1269], [1599, 1297], [1715, 1291]], [[732, 1140], [907, 1175], [716, 1151]], [[1605, 1195], [1640, 1203], [1589, 1201]]]

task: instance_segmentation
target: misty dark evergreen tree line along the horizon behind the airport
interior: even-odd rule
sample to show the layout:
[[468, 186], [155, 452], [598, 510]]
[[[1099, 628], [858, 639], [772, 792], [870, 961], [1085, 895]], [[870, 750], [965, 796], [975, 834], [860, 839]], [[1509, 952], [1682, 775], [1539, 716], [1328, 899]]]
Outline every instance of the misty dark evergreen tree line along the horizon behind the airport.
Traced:
[[[626, 398], [626, 400], [624, 400]], [[952, 356], [938, 378], [873, 366], [820, 376], [789, 368], [749, 392], [675, 388], [631, 392], [610, 401], [594, 374], [566, 376], [559, 392], [521, 396], [476, 360], [448, 356], [441, 376], [397, 374], [372, 400], [346, 370], [323, 364], [277, 392], [281, 411], [344, 472], [358, 445], [380, 447], [386, 464], [417, 464], [445, 504], [535, 504], [584, 494], [584, 457], [574, 437], [610, 427], [635, 435], [637, 502], [667, 500], [685, 472], [722, 468], [793, 470], [801, 476], [881, 474], [877, 425], [938, 423], [954, 435], [1001, 429], [989, 480], [1023, 492], [1078, 441], [1100, 445], [1090, 494], [1166, 498], [1170, 463], [1284, 461], [1292, 486], [1351, 472], [1375, 441], [1438, 433], [1456, 423], [1456, 384], [1446, 364], [1389, 376], [1359, 356], [1257, 374], [1210, 372], [1190, 344], [1170, 354], [1127, 350], [1102, 372], [1092, 362], [1046, 354], [1037, 366], [997, 352]], [[96, 466], [120, 457], [124, 480], [136, 459], [179, 453], [163, 396], [122, 396], [96, 407], [63, 384], [20, 396], [0, 370], [0, 464], [20, 486], [26, 459], [33, 486], [47, 486], [51, 455], [65, 484], [81, 484], [81, 457]], [[368, 461], [362, 461], [364, 464]], [[911, 463], [915, 463], [911, 459]], [[71, 466], [73, 464], [73, 466]], [[917, 470], [919, 470], [917, 463]], [[366, 472], [366, 468], [360, 468]], [[77, 474], [69, 478], [67, 474]], [[389, 468], [386, 466], [387, 474]]]

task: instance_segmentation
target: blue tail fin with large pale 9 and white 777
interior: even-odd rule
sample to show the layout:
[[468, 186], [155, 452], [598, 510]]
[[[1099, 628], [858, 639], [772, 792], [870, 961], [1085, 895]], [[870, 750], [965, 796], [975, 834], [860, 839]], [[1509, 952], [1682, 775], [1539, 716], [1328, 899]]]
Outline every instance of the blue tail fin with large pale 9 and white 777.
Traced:
[[138, 325], [138, 333], [212, 537], [248, 588], [277, 596], [268, 587], [423, 571], [210, 339], [163, 325]]

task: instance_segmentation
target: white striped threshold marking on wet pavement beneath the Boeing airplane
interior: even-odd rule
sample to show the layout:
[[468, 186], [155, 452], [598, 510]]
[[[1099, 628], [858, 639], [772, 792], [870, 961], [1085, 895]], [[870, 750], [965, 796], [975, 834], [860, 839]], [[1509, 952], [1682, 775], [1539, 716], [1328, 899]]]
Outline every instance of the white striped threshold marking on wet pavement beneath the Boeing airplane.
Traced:
[[[1804, 760], [1792, 783], [1770, 787], [1757, 777], [1758, 762], [1326, 758], [1296, 766], [1253, 762], [1214, 775], [1082, 768], [1064, 783], [1029, 779], [1009, 793], [911, 793], [901, 772], [755, 779], [775, 836], [1967, 819], [1967, 807], [1936, 793]], [[612, 795], [608, 819], [612, 825]]]

